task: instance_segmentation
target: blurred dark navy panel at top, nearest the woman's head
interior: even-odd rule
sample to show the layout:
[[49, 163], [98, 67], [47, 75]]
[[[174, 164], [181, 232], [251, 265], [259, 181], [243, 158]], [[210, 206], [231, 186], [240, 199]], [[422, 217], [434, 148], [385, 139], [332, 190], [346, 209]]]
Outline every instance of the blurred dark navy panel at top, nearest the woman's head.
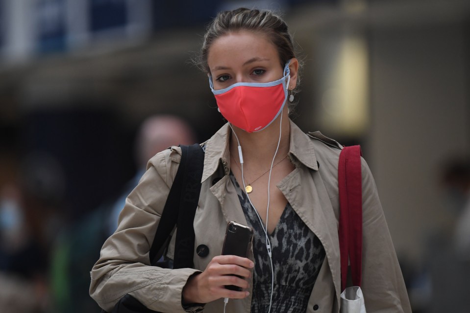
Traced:
[[124, 27], [127, 23], [127, 1], [90, 0], [90, 17], [93, 32]]

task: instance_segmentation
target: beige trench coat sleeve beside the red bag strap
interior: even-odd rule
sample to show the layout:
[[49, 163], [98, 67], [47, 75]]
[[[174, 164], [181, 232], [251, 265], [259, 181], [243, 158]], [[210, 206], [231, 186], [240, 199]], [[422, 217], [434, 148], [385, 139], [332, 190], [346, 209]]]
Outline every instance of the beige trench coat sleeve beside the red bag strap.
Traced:
[[362, 290], [368, 313], [411, 313], [408, 294], [371, 171], [362, 162]]

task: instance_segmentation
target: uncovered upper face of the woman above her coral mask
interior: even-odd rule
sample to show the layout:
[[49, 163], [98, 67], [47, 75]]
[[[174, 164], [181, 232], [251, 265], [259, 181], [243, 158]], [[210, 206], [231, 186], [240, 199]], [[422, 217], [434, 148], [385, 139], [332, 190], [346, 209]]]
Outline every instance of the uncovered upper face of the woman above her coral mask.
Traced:
[[[271, 41], [249, 31], [231, 32], [217, 38], [209, 48], [207, 63], [215, 90], [242, 82], [272, 82], [283, 76], [284, 69]], [[289, 85], [295, 88], [292, 70]]]

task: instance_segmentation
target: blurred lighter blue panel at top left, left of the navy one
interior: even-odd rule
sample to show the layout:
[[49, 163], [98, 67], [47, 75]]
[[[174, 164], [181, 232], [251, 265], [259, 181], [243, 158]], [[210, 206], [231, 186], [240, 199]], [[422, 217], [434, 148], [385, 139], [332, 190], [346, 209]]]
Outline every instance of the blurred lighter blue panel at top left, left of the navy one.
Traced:
[[39, 52], [65, 50], [65, 4], [65, 0], [36, 1], [34, 16], [36, 17]]

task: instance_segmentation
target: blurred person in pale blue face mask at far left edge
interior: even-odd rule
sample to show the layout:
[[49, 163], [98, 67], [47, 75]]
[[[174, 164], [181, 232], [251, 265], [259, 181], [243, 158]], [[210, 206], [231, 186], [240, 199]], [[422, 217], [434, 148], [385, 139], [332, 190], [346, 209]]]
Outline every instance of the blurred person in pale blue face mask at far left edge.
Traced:
[[0, 191], [0, 312], [46, 312], [49, 253], [62, 223], [65, 183], [55, 157], [31, 152], [19, 183]]

